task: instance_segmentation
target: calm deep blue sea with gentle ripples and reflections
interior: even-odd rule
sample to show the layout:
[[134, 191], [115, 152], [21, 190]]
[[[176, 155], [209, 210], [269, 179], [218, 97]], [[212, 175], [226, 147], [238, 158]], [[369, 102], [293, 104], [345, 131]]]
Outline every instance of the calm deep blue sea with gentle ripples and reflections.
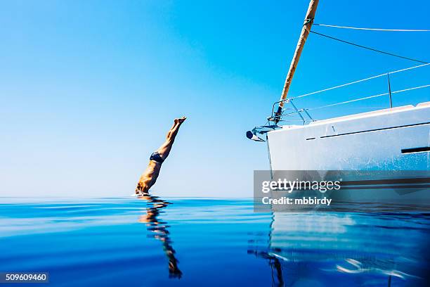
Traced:
[[210, 198], [0, 204], [0, 272], [49, 272], [50, 283], [25, 286], [426, 286], [429, 238], [420, 212], [254, 213], [252, 200]]

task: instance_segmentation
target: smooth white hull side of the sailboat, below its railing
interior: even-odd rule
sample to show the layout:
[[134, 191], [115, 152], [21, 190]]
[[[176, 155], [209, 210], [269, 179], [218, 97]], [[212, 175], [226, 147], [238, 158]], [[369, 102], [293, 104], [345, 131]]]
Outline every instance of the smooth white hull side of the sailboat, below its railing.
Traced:
[[272, 170], [430, 170], [430, 102], [267, 135]]

